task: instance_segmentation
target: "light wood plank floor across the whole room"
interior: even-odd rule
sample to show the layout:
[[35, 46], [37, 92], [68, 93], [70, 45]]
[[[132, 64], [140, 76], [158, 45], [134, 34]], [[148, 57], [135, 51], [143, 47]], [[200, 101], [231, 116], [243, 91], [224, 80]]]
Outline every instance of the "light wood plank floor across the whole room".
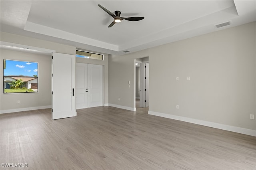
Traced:
[[42, 109], [2, 114], [0, 123], [0, 162], [27, 163], [23, 170], [256, 169], [256, 137], [148, 115], [147, 108], [80, 109], [55, 121]]

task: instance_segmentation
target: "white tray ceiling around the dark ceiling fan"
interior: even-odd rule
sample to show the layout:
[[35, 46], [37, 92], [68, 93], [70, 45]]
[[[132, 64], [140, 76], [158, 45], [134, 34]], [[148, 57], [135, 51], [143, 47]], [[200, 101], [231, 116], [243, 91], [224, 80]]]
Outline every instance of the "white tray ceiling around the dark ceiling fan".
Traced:
[[[1, 0], [1, 31], [124, 54], [256, 21], [255, 0]], [[122, 17], [113, 18], [98, 4]], [[230, 26], [214, 25], [230, 21]]]

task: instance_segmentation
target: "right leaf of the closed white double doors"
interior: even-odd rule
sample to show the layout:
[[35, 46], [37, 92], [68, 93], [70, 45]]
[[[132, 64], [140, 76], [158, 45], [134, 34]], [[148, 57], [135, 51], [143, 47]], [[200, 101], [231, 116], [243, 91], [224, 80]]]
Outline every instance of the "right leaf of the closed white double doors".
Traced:
[[103, 105], [103, 66], [88, 64], [88, 107]]

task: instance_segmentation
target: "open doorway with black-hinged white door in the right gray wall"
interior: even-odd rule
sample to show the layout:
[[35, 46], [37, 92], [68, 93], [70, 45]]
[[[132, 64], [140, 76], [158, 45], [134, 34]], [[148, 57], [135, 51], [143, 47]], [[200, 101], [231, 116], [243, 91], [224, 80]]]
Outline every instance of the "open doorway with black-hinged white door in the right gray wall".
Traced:
[[149, 106], [149, 58], [135, 61], [135, 107]]

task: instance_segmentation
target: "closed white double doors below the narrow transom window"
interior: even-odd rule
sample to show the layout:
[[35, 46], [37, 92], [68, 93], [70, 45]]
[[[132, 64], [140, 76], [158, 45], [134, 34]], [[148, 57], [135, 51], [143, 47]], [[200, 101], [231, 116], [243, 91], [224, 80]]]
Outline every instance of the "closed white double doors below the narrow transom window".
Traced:
[[76, 109], [103, 106], [103, 66], [76, 63]]

